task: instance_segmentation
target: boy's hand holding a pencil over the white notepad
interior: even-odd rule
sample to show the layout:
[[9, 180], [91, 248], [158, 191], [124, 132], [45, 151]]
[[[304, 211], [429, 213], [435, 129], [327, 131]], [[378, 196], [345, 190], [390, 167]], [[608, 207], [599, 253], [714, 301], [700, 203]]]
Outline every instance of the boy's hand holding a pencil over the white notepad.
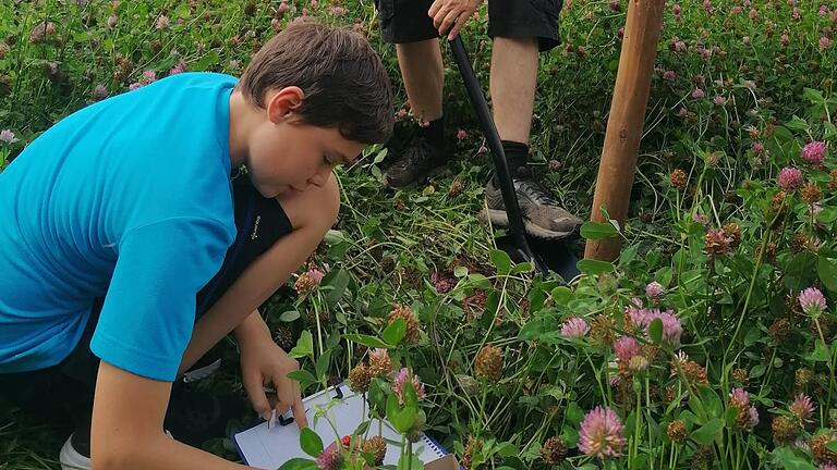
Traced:
[[265, 385], [276, 387], [276, 415], [280, 416], [291, 408], [296, 425], [307, 428], [305, 409], [302, 406], [300, 384], [288, 379], [288, 373], [300, 370], [300, 363], [274, 343], [272, 338], [260, 336], [239, 345], [241, 348], [241, 374], [253, 409], [265, 419], [270, 419], [274, 407], [265, 393]]

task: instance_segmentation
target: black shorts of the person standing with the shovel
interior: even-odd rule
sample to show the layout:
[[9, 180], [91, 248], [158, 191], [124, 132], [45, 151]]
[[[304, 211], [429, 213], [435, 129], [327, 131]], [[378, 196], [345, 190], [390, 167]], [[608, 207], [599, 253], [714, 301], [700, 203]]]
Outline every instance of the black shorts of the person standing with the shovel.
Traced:
[[[375, 0], [387, 42], [416, 42], [439, 37], [427, 15], [433, 0]], [[560, 44], [558, 15], [563, 0], [488, 0], [488, 36], [536, 37], [542, 51]]]

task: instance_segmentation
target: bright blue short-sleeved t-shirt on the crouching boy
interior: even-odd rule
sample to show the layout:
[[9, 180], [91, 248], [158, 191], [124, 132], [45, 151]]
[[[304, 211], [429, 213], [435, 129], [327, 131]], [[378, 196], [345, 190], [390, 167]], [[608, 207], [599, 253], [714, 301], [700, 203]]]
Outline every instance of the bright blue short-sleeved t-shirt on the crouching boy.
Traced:
[[195, 295], [235, 238], [234, 85], [187, 73], [92, 104], [0, 173], [0, 373], [63, 360], [107, 293], [93, 352], [174, 379]]

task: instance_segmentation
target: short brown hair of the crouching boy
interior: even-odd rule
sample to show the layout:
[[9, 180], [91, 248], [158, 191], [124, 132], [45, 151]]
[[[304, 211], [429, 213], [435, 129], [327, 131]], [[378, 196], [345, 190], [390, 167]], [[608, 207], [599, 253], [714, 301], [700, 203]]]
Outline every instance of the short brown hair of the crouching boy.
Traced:
[[336, 126], [344, 138], [363, 144], [384, 143], [392, 134], [392, 86], [360, 33], [296, 20], [253, 57], [236, 89], [265, 108], [267, 90], [287, 86], [305, 94], [296, 112], [306, 124]]

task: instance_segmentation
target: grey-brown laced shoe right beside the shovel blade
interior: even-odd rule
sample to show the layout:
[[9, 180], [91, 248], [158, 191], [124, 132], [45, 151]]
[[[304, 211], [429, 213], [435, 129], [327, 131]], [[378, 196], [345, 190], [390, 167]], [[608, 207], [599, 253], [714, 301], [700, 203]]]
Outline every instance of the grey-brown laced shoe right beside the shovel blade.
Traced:
[[[582, 220], [558, 206], [553, 195], [535, 180], [530, 168], [521, 166], [512, 172], [518, 205], [530, 235], [544, 239], [561, 239], [578, 231]], [[483, 220], [490, 220], [494, 225], [506, 227], [509, 225], [509, 217], [495, 178], [489, 180], [485, 187], [487, 213], [483, 211], [480, 215]]]

